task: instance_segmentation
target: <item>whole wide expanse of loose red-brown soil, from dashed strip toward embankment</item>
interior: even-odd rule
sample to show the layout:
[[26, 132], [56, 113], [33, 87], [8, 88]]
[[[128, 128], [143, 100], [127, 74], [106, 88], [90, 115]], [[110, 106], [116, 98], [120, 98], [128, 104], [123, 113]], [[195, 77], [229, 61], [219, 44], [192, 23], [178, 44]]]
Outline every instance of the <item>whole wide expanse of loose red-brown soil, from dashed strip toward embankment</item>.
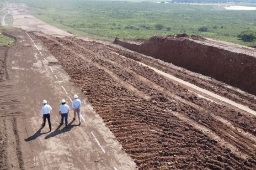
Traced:
[[[236, 130], [256, 135], [255, 116], [198, 98], [129, 59], [153, 64], [152, 58], [73, 37], [37, 33], [37, 38], [64, 66], [139, 169], [256, 168], [255, 141]], [[160, 67], [160, 62], [155, 60], [155, 66]], [[173, 71], [172, 67], [165, 69]], [[187, 71], [180, 70], [176, 70], [177, 75], [186, 75]], [[217, 88], [216, 84], [225, 87], [218, 83], [208, 82], [213, 88]], [[245, 95], [230, 91], [230, 98]], [[255, 103], [248, 100], [250, 97], [241, 102], [253, 108]], [[219, 118], [229, 121], [235, 129]]]

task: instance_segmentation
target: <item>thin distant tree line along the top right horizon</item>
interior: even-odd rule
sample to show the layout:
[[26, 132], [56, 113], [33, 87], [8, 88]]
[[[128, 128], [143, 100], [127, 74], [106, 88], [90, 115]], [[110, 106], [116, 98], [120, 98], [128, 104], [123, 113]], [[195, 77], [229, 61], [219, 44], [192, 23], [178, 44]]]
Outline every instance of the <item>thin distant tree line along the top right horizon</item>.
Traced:
[[176, 3], [227, 3], [227, 2], [246, 2], [246, 3], [256, 3], [256, 0], [172, 0], [171, 2]]

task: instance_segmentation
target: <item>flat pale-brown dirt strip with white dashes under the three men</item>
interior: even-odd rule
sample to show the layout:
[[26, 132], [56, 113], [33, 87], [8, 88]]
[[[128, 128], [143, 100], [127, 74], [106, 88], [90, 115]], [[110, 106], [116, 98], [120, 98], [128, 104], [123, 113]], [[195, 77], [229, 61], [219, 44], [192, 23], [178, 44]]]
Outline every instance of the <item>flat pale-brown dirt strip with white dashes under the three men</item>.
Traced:
[[[28, 117], [17, 121], [19, 129], [23, 168], [30, 169], [88, 169], [112, 170], [135, 169], [135, 163], [122, 151], [121, 145], [105, 126], [102, 119], [80, 92], [69, 81], [69, 76], [42, 43], [23, 31], [12, 31], [17, 44], [9, 52], [10, 77], [15, 79], [18, 99], [22, 101], [23, 113]], [[21, 49], [17, 51], [18, 49]], [[24, 56], [26, 59], [24, 60]], [[69, 128], [59, 126], [58, 107], [62, 98], [71, 105], [77, 93], [83, 102], [82, 124], [73, 122], [69, 114]], [[52, 132], [48, 124], [41, 129], [41, 100], [48, 100], [53, 107]]]

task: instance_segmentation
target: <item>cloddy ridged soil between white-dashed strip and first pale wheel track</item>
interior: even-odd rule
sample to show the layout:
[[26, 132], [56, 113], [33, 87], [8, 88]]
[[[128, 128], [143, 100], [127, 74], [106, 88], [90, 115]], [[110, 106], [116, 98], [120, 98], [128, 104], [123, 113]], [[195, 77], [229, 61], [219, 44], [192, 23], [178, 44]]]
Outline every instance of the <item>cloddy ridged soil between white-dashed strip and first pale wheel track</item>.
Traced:
[[[255, 166], [251, 163], [252, 159], [249, 159], [248, 166], [244, 165], [243, 160], [232, 154], [229, 149], [224, 149], [217, 144], [217, 141], [214, 142], [213, 139], [203, 135], [200, 130], [180, 121], [165, 108], [161, 108], [162, 106], [156, 106], [153, 101], [146, 101], [130, 93], [113, 80], [107, 72], [94, 67], [91, 63], [86, 63], [72, 50], [64, 48], [51, 38], [47, 39], [42, 36], [39, 38], [59, 59], [72, 81], [87, 95], [117, 140], [136, 161], [139, 169], [164, 167], [173, 169], [219, 167], [222, 169], [225, 167], [222, 161], [227, 164], [226, 168], [228, 166], [250, 169], [249, 167]], [[86, 55], [81, 50], [77, 52]], [[86, 57], [91, 58], [91, 54]], [[104, 64], [95, 58], [92, 58], [92, 61], [100, 65]], [[80, 73], [81, 77], [77, 77], [77, 73]], [[152, 96], [154, 97], [158, 99], [157, 96]], [[167, 100], [165, 103], [171, 105], [174, 102]], [[104, 109], [107, 110], [104, 111]], [[186, 127], [189, 127], [188, 131]], [[202, 140], [203, 142], [200, 142]], [[184, 148], [188, 150], [184, 152]], [[218, 160], [218, 154], [224, 160]], [[229, 155], [228, 159], [227, 155]]]

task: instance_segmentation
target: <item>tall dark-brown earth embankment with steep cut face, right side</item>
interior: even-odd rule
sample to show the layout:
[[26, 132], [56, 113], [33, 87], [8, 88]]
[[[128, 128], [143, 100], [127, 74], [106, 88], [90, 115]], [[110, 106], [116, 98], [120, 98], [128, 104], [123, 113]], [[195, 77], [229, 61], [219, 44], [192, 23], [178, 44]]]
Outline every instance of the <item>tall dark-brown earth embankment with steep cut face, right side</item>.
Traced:
[[198, 36], [153, 36], [115, 44], [256, 94], [256, 50]]

